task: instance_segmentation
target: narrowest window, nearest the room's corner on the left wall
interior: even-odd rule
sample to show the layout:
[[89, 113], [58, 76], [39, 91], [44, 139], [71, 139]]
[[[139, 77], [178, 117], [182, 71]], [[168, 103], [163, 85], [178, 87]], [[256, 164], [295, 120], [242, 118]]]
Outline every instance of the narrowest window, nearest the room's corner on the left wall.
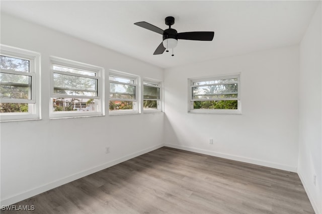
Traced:
[[143, 111], [162, 112], [161, 83], [153, 80], [143, 80]]

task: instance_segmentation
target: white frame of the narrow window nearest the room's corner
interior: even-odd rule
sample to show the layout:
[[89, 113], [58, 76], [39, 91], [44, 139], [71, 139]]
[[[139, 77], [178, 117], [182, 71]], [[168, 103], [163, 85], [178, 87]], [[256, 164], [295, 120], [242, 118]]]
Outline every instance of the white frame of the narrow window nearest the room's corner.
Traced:
[[[159, 88], [159, 99], [144, 99], [144, 82], [150, 83], [150, 84], [155, 84], [157, 86], [151, 86], [151, 87], [156, 87]], [[142, 111], [143, 113], [156, 113], [156, 112], [163, 112], [163, 82], [155, 79], [150, 79], [150, 78], [143, 78], [142, 81]], [[157, 109], [144, 109], [144, 100], [156, 100], [157, 101]]]

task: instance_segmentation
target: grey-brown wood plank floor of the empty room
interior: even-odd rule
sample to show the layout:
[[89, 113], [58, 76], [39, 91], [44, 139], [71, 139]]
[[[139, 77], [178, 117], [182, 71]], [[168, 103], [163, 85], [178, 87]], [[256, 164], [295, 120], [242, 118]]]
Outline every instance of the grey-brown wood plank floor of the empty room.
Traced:
[[17, 213], [314, 213], [296, 173], [168, 147], [15, 205], [35, 206]]

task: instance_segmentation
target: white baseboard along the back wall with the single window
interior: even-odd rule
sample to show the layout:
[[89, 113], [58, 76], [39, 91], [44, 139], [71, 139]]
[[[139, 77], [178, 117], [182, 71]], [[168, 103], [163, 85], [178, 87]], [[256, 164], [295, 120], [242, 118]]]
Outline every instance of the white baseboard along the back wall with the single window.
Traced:
[[220, 158], [226, 158], [230, 160], [235, 160], [235, 161], [241, 161], [241, 162], [246, 162], [246, 163], [251, 163], [251, 164], [256, 164], [260, 166], [267, 166], [275, 169], [282, 169], [290, 172], [297, 172], [297, 167], [296, 166], [287, 166], [287, 165], [282, 165], [278, 163], [273, 163], [273, 162], [268, 162], [268, 161], [262, 161], [258, 159], [253, 159], [253, 158], [246, 158], [246, 157], [241, 157], [241, 156], [235, 156], [235, 155], [229, 155], [229, 154], [224, 154], [220, 152], [213, 152], [209, 150], [204, 150], [204, 149], [197, 149], [193, 147], [186, 147], [186, 146], [181, 146], [181, 145], [175, 145], [175, 144], [165, 144], [167, 147], [175, 148], [175, 149], [182, 149], [190, 152], [197, 152], [205, 155], [211, 155], [215, 157], [220, 157]]

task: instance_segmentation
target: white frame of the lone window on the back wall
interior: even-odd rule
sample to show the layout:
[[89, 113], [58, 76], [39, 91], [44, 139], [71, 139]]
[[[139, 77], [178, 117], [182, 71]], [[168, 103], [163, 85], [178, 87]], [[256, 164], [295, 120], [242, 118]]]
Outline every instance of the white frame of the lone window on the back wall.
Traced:
[[[197, 77], [197, 78], [188, 78], [188, 113], [197, 113], [197, 114], [232, 114], [232, 115], [241, 115], [241, 103], [240, 103], [240, 76], [241, 73], [232, 73], [232, 74], [223, 74], [223, 75], [215, 75], [215, 76], [208, 76], [208, 77]], [[193, 85], [194, 82], [201, 82], [201, 81], [214, 81], [220, 79], [231, 79], [237, 78], [237, 97], [236, 98], [212, 98], [212, 99], [193, 99], [192, 97], [192, 88], [196, 87]], [[231, 83], [231, 82], [229, 82]], [[227, 84], [229, 84], [227, 82]], [[214, 84], [204, 84], [200, 86], [207, 86], [207, 85], [220, 85], [222, 83], [214, 83]], [[204, 101], [204, 100], [237, 100], [237, 109], [228, 110], [228, 109], [194, 109], [194, 101]]]

